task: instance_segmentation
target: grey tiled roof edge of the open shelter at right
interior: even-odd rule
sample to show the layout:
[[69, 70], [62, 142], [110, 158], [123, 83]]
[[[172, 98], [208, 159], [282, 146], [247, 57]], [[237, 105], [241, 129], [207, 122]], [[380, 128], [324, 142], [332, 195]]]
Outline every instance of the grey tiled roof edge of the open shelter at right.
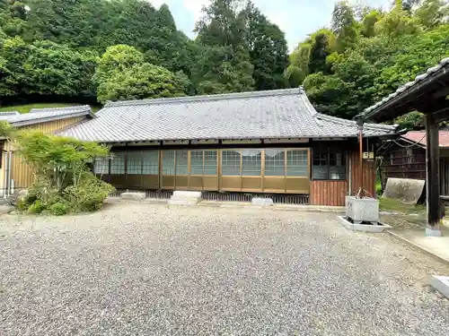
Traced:
[[412, 90], [420, 82], [431, 80], [438, 73], [447, 71], [447, 67], [449, 67], [449, 57], [442, 59], [438, 65], [428, 68], [426, 73], [421, 73], [418, 76], [416, 76], [414, 81], [402, 85], [398, 90], [392, 92], [390, 96], [383, 98], [381, 101], [377, 102], [376, 104], [374, 104], [369, 108], [365, 108], [365, 111], [361, 115], [364, 117], [372, 115], [374, 113], [374, 110], [382, 108], [383, 105], [387, 104], [396, 97], [401, 97], [402, 95], [407, 94], [409, 90]]

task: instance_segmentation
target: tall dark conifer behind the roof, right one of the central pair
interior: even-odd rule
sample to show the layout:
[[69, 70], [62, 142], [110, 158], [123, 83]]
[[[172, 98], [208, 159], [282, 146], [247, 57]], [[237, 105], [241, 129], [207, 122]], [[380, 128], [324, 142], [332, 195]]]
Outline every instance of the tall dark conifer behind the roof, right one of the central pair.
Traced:
[[286, 87], [283, 75], [289, 64], [285, 34], [269, 22], [260, 10], [248, 1], [244, 15], [246, 45], [254, 66], [252, 77], [256, 90], [275, 90]]

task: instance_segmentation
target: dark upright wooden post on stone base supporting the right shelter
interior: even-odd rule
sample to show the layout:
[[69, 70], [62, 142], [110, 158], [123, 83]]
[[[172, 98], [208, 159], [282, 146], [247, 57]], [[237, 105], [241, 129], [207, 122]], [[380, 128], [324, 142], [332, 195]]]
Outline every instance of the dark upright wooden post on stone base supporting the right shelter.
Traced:
[[426, 118], [426, 172], [427, 172], [427, 229], [428, 236], [441, 236], [440, 221], [440, 172], [438, 124], [427, 113]]

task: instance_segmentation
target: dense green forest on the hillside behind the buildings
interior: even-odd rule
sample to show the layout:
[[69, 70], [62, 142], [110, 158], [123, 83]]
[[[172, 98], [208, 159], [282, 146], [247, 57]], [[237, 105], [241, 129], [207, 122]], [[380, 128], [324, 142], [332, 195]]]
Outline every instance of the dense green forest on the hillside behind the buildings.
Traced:
[[[251, 0], [211, 0], [195, 33], [189, 39], [151, 0], [0, 0], [0, 106], [303, 84], [315, 108], [351, 118], [449, 56], [449, 5], [394, 0], [383, 11], [340, 1], [290, 55], [284, 32]], [[421, 116], [399, 121], [417, 127]]]

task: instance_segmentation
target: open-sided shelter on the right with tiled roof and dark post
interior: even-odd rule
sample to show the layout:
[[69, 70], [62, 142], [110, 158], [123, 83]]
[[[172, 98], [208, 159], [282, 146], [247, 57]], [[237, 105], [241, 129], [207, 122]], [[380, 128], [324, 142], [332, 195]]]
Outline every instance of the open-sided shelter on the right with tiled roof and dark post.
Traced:
[[422, 112], [426, 125], [427, 236], [441, 236], [439, 124], [449, 120], [449, 57], [419, 74], [413, 81], [384, 97], [357, 116], [360, 127], [367, 121], [385, 122], [412, 111]]

